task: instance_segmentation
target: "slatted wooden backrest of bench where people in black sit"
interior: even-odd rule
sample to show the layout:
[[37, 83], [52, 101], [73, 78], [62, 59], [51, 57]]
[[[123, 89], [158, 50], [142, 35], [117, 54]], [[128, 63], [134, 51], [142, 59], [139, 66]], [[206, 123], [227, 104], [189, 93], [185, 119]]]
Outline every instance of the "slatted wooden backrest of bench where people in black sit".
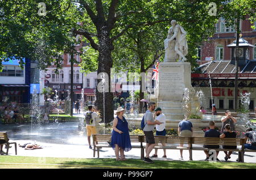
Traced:
[[243, 145], [243, 138], [206, 138], [193, 137], [193, 144], [205, 145]]

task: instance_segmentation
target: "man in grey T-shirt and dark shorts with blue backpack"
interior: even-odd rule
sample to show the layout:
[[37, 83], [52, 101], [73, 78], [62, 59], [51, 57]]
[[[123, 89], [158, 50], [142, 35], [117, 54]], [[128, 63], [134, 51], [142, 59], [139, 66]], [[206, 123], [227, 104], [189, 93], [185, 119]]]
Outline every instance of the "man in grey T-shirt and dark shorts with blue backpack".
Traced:
[[144, 162], [152, 163], [153, 161], [149, 158], [150, 152], [155, 147], [155, 138], [153, 130], [155, 125], [160, 125], [159, 121], [155, 121], [152, 112], [155, 110], [155, 102], [148, 103], [148, 110], [144, 115], [145, 127], [143, 128], [144, 135], [146, 136], [146, 156], [143, 158]]

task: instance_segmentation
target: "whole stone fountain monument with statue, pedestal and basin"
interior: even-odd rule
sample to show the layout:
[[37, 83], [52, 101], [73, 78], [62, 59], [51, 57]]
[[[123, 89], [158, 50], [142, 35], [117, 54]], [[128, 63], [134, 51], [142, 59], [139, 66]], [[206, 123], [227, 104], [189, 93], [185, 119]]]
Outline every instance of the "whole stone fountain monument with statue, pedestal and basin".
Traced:
[[[200, 100], [198, 93], [191, 85], [191, 64], [185, 62], [188, 53], [186, 35], [175, 20], [164, 40], [164, 62], [159, 65], [158, 88], [151, 101], [156, 102], [166, 115], [166, 127], [177, 130], [179, 122], [191, 114], [200, 115], [201, 119], [191, 119], [194, 127], [194, 136], [203, 136], [203, 127], [209, 126], [209, 121], [214, 120], [217, 127], [221, 127], [221, 117], [217, 115], [199, 114]], [[179, 60], [177, 62], [177, 59]], [[135, 125], [140, 126], [143, 114], [137, 114]], [[132, 114], [126, 114], [126, 119], [134, 121]]]

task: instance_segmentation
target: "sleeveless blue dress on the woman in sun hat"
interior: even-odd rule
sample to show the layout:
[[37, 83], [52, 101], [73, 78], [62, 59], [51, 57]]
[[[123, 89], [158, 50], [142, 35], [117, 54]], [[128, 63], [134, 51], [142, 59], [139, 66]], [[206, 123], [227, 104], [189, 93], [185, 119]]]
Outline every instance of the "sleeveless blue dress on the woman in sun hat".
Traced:
[[117, 129], [122, 131], [122, 134], [119, 134], [116, 131], [112, 131], [112, 139], [111, 139], [111, 146], [113, 149], [115, 149], [115, 144], [117, 144], [119, 147], [121, 147], [124, 151], [130, 151], [131, 150], [131, 140], [129, 135], [129, 128], [128, 128], [128, 122], [126, 121], [125, 117], [123, 119], [120, 119], [117, 117]]

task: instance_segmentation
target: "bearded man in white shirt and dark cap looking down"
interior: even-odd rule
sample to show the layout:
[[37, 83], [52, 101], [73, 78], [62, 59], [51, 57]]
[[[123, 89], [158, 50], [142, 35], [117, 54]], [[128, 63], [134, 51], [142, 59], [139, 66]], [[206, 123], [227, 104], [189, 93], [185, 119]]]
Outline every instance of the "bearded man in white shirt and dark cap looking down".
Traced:
[[[156, 128], [156, 136], [166, 136], [166, 116], [162, 113], [161, 108], [155, 109], [155, 115], [154, 118], [158, 120], [161, 124], [155, 125]], [[165, 143], [161, 143], [163, 146], [165, 146]], [[164, 151], [164, 158], [166, 157], [166, 149], [163, 149]], [[158, 157], [158, 149], [155, 149], [155, 154], [152, 157]]]

